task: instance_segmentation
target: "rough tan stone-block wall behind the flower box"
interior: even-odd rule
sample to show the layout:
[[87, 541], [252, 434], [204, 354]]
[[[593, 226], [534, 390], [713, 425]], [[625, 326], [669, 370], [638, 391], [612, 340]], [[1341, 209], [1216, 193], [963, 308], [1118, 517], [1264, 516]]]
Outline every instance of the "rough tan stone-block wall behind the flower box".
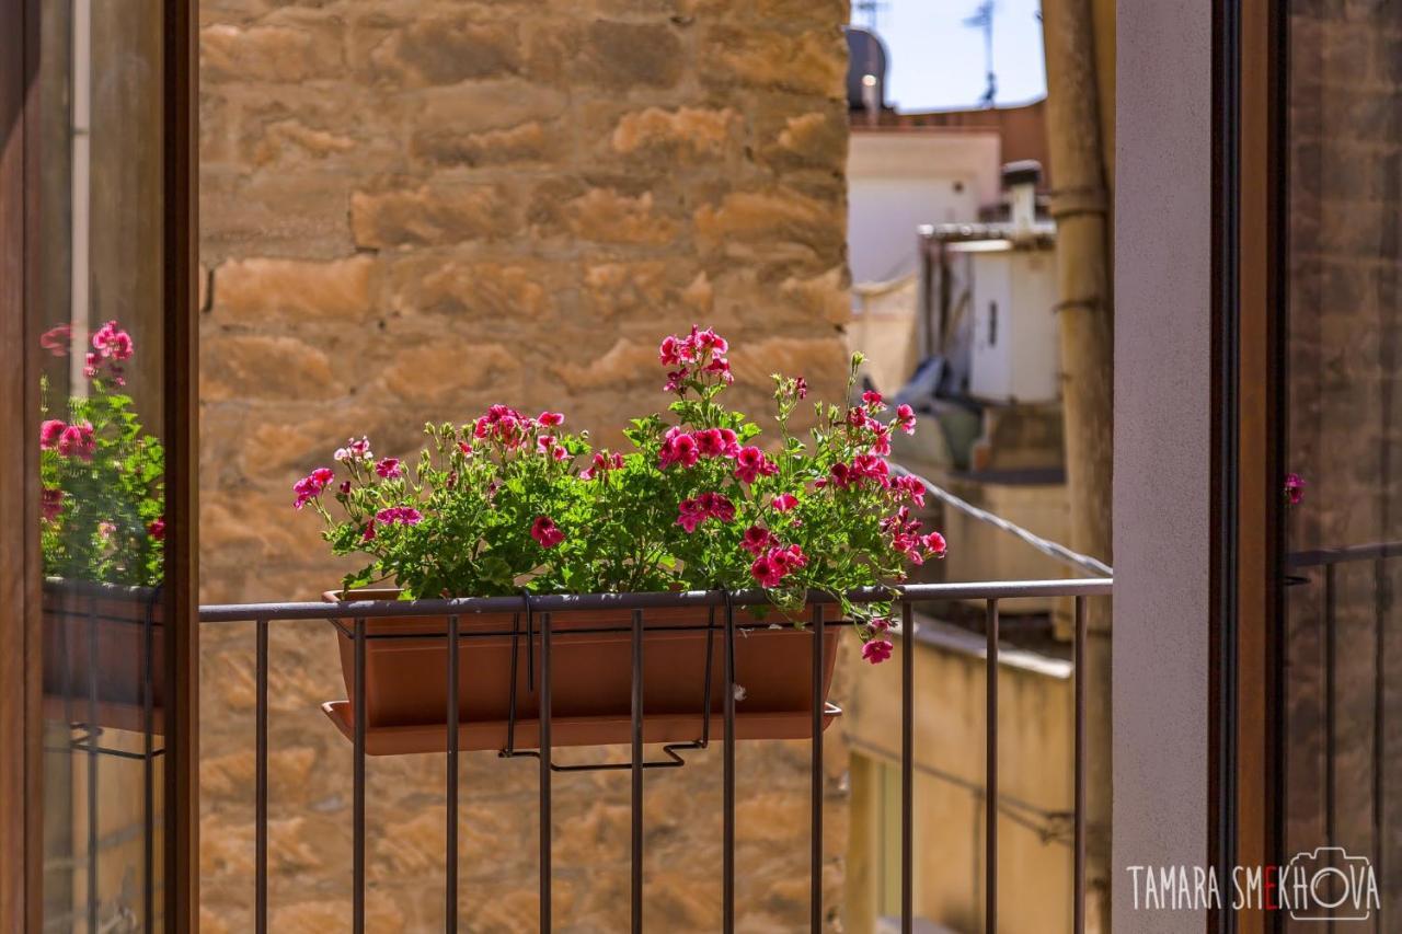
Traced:
[[[615, 443], [660, 407], [655, 346], [709, 323], [736, 395], [836, 395], [847, 316], [843, 0], [205, 0], [202, 596], [336, 582], [290, 485], [348, 435], [383, 454], [495, 401]], [[205, 634], [203, 914], [248, 930], [252, 632]], [[349, 746], [331, 635], [272, 641], [273, 930], [348, 923]], [[830, 743], [836, 917], [845, 754]], [[648, 912], [714, 930], [719, 757], [648, 781]], [[808, 749], [746, 745], [750, 930], [806, 921]], [[443, 757], [372, 760], [370, 927], [440, 930]], [[461, 917], [534, 930], [536, 766], [463, 769]], [[557, 783], [561, 930], [625, 927], [627, 776]]]

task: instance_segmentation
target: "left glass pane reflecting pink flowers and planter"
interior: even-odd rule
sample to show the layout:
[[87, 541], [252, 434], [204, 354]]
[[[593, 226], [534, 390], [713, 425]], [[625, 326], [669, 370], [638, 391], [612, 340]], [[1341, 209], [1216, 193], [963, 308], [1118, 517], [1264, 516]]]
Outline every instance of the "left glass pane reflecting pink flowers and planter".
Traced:
[[45, 0], [41, 244], [43, 919], [157, 921], [161, 578], [161, 20]]

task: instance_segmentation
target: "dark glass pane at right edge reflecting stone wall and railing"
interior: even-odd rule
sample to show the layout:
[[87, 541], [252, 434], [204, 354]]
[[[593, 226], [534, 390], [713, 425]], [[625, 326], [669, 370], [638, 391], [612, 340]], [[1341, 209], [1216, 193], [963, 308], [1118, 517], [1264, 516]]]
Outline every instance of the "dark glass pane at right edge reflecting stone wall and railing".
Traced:
[[[1290, 553], [1283, 857], [1302, 854], [1342, 869], [1370, 864], [1381, 913], [1346, 898], [1332, 917], [1368, 913], [1349, 930], [1395, 931], [1402, 923], [1402, 4], [1287, 6], [1284, 421], [1293, 477], [1283, 491]], [[1315, 930], [1305, 919], [1321, 913], [1328, 916], [1295, 912], [1286, 927]]]

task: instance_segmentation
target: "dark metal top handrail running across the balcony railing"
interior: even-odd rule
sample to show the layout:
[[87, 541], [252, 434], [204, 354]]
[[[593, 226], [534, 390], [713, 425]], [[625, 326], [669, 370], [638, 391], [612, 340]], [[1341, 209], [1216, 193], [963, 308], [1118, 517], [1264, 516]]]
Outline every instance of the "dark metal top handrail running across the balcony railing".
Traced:
[[[890, 588], [861, 588], [848, 590], [852, 603], [893, 600], [904, 595], [910, 600], [1016, 600], [1026, 597], [1109, 596], [1112, 578], [1050, 579], [1050, 581], [979, 581], [970, 583], [907, 583]], [[810, 603], [836, 603], [830, 593], [813, 590]], [[212, 603], [199, 607], [200, 623], [247, 623], [250, 620], [331, 620], [343, 617], [379, 618], [386, 616], [433, 616], [468, 613], [510, 613], [520, 610], [522, 596], [456, 597], [447, 600], [346, 600], [293, 603]], [[683, 590], [652, 593], [541, 593], [530, 596], [536, 611], [562, 613], [569, 610], [652, 610], [683, 606], [723, 606], [725, 590]], [[733, 606], [764, 606], [767, 592], [760, 589], [732, 590]]]

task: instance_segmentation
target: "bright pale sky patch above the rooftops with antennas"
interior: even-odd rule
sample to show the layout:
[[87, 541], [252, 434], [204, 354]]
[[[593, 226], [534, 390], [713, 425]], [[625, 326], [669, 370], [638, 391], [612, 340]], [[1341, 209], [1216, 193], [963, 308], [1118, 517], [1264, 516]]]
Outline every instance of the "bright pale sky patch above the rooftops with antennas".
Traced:
[[[883, 0], [876, 34], [886, 43], [890, 72], [886, 102], [900, 111], [974, 107], [983, 97], [983, 31], [965, 25], [980, 0]], [[871, 14], [852, 3], [852, 22]], [[1025, 104], [1046, 94], [1039, 0], [994, 0], [993, 67], [1000, 105]]]

